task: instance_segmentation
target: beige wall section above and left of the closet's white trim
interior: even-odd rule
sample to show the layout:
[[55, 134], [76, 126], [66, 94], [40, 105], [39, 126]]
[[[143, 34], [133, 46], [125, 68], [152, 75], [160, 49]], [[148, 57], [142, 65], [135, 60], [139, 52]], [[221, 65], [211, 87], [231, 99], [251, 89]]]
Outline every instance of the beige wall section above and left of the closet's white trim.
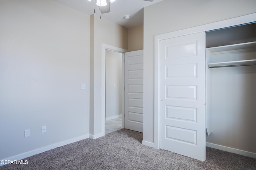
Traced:
[[254, 0], [163, 0], [144, 8], [144, 141], [154, 143], [154, 36], [252, 14]]

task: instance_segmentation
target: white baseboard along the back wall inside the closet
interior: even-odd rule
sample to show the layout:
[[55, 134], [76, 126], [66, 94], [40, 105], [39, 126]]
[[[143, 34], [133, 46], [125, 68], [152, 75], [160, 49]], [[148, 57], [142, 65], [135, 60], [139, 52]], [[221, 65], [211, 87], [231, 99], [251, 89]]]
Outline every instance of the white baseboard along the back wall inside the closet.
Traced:
[[217, 145], [217, 144], [214, 144], [214, 143], [206, 142], [206, 147], [211, 147], [211, 148], [224, 150], [224, 151], [231, 152], [231, 153], [236, 153], [236, 154], [248, 156], [248, 157], [251, 157], [251, 158], [256, 158], [256, 153], [248, 152], [248, 151], [244, 151], [244, 150], [239, 150], [239, 149], [235, 149], [235, 148], [230, 148], [230, 147], [225, 147], [225, 146]]

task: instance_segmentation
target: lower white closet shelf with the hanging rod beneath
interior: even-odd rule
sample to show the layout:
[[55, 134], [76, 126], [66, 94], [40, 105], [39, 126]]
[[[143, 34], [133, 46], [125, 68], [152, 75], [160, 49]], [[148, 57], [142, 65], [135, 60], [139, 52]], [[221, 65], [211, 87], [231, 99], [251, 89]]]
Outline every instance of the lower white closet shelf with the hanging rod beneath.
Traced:
[[208, 63], [208, 68], [231, 67], [231, 66], [250, 66], [250, 65], [256, 65], [256, 59], [228, 61], [228, 62], [220, 62], [220, 63]]

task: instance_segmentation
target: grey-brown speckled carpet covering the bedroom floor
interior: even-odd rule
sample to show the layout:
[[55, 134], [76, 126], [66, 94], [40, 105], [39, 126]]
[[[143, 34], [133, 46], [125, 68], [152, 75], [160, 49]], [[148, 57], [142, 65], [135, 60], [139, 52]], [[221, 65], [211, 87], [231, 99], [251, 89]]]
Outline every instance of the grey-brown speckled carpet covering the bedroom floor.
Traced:
[[206, 161], [142, 145], [143, 133], [121, 129], [8, 164], [1, 170], [251, 170], [256, 159], [206, 148]]

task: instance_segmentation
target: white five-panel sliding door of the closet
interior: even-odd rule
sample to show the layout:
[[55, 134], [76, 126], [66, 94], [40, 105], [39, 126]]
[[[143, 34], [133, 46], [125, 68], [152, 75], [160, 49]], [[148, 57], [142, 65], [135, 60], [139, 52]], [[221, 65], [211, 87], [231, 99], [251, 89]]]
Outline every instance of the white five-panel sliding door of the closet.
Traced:
[[160, 148], [205, 160], [205, 33], [160, 41]]

